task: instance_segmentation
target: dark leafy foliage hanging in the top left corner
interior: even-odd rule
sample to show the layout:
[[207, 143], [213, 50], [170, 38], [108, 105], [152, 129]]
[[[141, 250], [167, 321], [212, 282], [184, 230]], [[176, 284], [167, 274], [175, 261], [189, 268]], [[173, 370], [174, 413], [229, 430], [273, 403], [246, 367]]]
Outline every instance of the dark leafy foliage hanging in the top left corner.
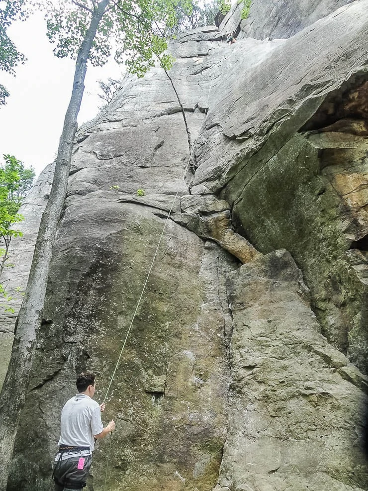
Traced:
[[[15, 67], [24, 63], [25, 58], [6, 34], [6, 29], [16, 19], [25, 19], [24, 0], [3, 0], [0, 2], [0, 70], [15, 75]], [[2, 5], [2, 6], [1, 6]], [[9, 97], [6, 88], [0, 84], [0, 105]]]

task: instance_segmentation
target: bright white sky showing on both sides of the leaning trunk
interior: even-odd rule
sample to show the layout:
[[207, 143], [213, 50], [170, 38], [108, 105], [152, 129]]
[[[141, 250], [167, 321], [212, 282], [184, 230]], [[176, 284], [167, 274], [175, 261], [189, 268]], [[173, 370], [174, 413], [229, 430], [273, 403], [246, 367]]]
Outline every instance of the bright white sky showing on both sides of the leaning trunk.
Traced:
[[[15, 78], [0, 72], [0, 82], [10, 93], [6, 105], [0, 106], [0, 163], [3, 154], [14, 155], [26, 166], [33, 165], [38, 175], [57, 153], [75, 62], [54, 56], [40, 12], [14, 22], [6, 32], [27, 61], [15, 69]], [[104, 67], [89, 65], [79, 126], [92, 119], [103, 103], [96, 95], [97, 80], [119, 79], [122, 71], [124, 66], [113, 60]]]

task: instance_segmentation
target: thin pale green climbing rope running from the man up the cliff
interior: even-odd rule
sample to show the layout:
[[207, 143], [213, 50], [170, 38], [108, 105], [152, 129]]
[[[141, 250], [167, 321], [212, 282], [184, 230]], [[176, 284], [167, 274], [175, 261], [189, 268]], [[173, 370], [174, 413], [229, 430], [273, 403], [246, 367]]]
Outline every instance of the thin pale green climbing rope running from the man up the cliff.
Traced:
[[[190, 162], [191, 162], [191, 157], [192, 157], [192, 154], [193, 154], [193, 152], [194, 152], [195, 145], [196, 145], [196, 143], [197, 143], [197, 140], [198, 140], [198, 138], [199, 138], [199, 135], [200, 135], [201, 129], [202, 129], [202, 127], [203, 127], [204, 120], [205, 120], [205, 118], [206, 118], [206, 116], [207, 116], [207, 112], [208, 112], [208, 101], [209, 101], [209, 96], [210, 96], [211, 89], [212, 89], [212, 84], [213, 84], [213, 80], [214, 80], [214, 75], [215, 75], [215, 70], [213, 70], [213, 74], [212, 74], [212, 77], [211, 77], [211, 83], [210, 83], [209, 90], [208, 90], [208, 95], [207, 95], [207, 100], [206, 100], [206, 105], [205, 105], [205, 109], [204, 109], [204, 114], [203, 114], [202, 122], [201, 122], [200, 128], [199, 128], [199, 130], [198, 130], [197, 137], [195, 138], [195, 140], [194, 140], [194, 144], [193, 144], [193, 146], [192, 146], [192, 148], [191, 148], [191, 152], [190, 152], [190, 154], [189, 154], [189, 159], [188, 159], [188, 161], [187, 161], [187, 163], [186, 163], [186, 165], [185, 165], [185, 167], [184, 167], [184, 174], [183, 174], [183, 177], [185, 176], [185, 173], [186, 173], [186, 171], [187, 171], [187, 169], [188, 169], [188, 166], [189, 166], [189, 164], [190, 164]], [[169, 77], [169, 78], [170, 78], [170, 77]], [[173, 85], [173, 82], [172, 82], [172, 85]], [[173, 85], [173, 86], [174, 86], [174, 85]], [[174, 88], [174, 90], [175, 90], [175, 88]], [[175, 92], [176, 92], [176, 90], [175, 90]], [[176, 92], [176, 93], [177, 93], [177, 92]], [[177, 94], [177, 97], [178, 97], [178, 94]], [[185, 122], [185, 119], [184, 119], [184, 122]], [[185, 122], [185, 126], [186, 126], [186, 122]], [[138, 299], [136, 309], [135, 309], [135, 311], [134, 311], [134, 314], [133, 314], [132, 320], [131, 320], [131, 322], [130, 322], [130, 325], [129, 325], [128, 331], [127, 331], [127, 333], [126, 333], [126, 336], [125, 336], [125, 339], [124, 339], [124, 343], [123, 343], [123, 346], [122, 346], [122, 348], [121, 348], [119, 358], [118, 358], [118, 360], [117, 360], [117, 362], [116, 362], [115, 369], [114, 369], [114, 371], [113, 371], [113, 373], [112, 373], [111, 380], [110, 380], [110, 383], [109, 383], [109, 385], [108, 385], [108, 388], [107, 388], [107, 391], [106, 391], [105, 397], [104, 397], [104, 399], [103, 399], [103, 402], [106, 402], [107, 395], [108, 395], [108, 393], [110, 392], [110, 388], [111, 388], [112, 382], [113, 382], [113, 380], [114, 380], [114, 377], [115, 377], [115, 374], [116, 374], [116, 370], [117, 370], [117, 368], [118, 368], [118, 366], [119, 366], [119, 363], [120, 363], [120, 360], [121, 360], [121, 357], [122, 357], [122, 354], [123, 354], [123, 351], [124, 351], [124, 348], [125, 348], [125, 344], [126, 344], [126, 342], [127, 342], [127, 339], [128, 339], [129, 333], [130, 333], [131, 328], [132, 328], [132, 326], [133, 326], [133, 322], [134, 322], [135, 316], [136, 316], [136, 314], [137, 314], [137, 312], [138, 312], [138, 308], [139, 308], [140, 302], [141, 302], [142, 297], [143, 297], [143, 294], [144, 294], [144, 292], [145, 292], [145, 289], [146, 289], [146, 286], [147, 286], [147, 283], [148, 283], [148, 279], [149, 279], [149, 277], [150, 277], [150, 274], [151, 274], [151, 271], [152, 271], [152, 268], [153, 268], [153, 265], [154, 265], [154, 262], [155, 262], [155, 259], [156, 259], [156, 256], [157, 256], [157, 253], [158, 253], [158, 250], [159, 250], [159, 247], [160, 247], [160, 245], [161, 245], [162, 238], [163, 238], [164, 233], [165, 233], [165, 230], [166, 230], [166, 226], [167, 226], [167, 224], [168, 224], [168, 221], [169, 221], [169, 218], [170, 218], [171, 212], [173, 211], [173, 207], [174, 207], [174, 204], [175, 204], [175, 201], [176, 201], [176, 199], [177, 199], [178, 195], [179, 195], [179, 190], [177, 191], [176, 195], [174, 196], [174, 199], [173, 199], [172, 205], [171, 205], [171, 207], [170, 207], [170, 210], [169, 210], [168, 216], [166, 217], [165, 224], [164, 224], [164, 228], [163, 228], [162, 233], [161, 233], [161, 235], [160, 235], [160, 239], [159, 239], [159, 242], [158, 242], [158, 244], [157, 244], [157, 247], [156, 247], [156, 250], [155, 250], [155, 254], [154, 254], [153, 259], [152, 259], [152, 262], [151, 262], [150, 269], [148, 270], [147, 277], [146, 277], [146, 280], [145, 280], [145, 282], [144, 282], [144, 285], [143, 285], [143, 288], [142, 288], [141, 295], [140, 295], [140, 297], [139, 297], [139, 299]], [[107, 455], [106, 473], [105, 473], [105, 482], [104, 482], [104, 486], [103, 486], [103, 491], [105, 491], [105, 489], [106, 489], [107, 472], [108, 472], [108, 463], [109, 463], [109, 456], [110, 456], [110, 450], [111, 450], [111, 440], [112, 440], [112, 434], [110, 433], [110, 444], [109, 444], [109, 450], [108, 450], [108, 455]]]

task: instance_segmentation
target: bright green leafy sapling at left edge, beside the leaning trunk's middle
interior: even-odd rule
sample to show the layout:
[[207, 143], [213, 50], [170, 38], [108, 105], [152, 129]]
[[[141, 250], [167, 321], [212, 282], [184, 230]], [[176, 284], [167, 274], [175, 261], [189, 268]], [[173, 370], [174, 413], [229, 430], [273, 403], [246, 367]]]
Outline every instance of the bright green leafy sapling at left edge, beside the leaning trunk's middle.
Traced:
[[[3, 155], [3, 159], [5, 163], [0, 167], [0, 240], [4, 247], [0, 247], [0, 278], [5, 262], [8, 260], [11, 238], [22, 236], [22, 232], [13, 228], [13, 225], [23, 220], [18, 210], [35, 176], [32, 167], [25, 169], [22, 162], [13, 155]], [[0, 282], [0, 307], [5, 312], [12, 313], [14, 309], [7, 306], [12, 296], [7, 295], [5, 290], [6, 281]]]

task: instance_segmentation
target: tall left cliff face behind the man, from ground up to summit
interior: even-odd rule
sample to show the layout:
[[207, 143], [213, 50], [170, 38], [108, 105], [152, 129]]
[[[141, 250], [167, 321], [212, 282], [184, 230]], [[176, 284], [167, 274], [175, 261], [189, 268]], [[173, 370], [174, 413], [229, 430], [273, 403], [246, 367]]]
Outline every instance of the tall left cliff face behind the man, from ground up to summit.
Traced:
[[[186, 51], [179, 45], [183, 63], [173, 73], [193, 136], [206, 94], [191, 73], [197, 55], [217, 42], [207, 40], [212, 37], [211, 30], [198, 32]], [[188, 157], [181, 108], [159, 69], [140, 82], [128, 78], [109, 108], [79, 133], [9, 489], [50, 488], [60, 410], [74, 393], [76, 372], [95, 371], [103, 399], [171, 207], [107, 398], [105, 418], [117, 423], [107, 483], [111, 490], [215, 486], [230, 375], [225, 279], [239, 260], [206, 238], [214, 234], [220, 242], [224, 230], [229, 248], [259, 253], [232, 229], [227, 203], [188, 196]], [[199, 220], [204, 210], [226, 219], [198, 237], [183, 217]], [[32, 428], [44, 430], [35, 433], [30, 418]], [[102, 487], [107, 451], [108, 441], [101, 442], [91, 490]]]

